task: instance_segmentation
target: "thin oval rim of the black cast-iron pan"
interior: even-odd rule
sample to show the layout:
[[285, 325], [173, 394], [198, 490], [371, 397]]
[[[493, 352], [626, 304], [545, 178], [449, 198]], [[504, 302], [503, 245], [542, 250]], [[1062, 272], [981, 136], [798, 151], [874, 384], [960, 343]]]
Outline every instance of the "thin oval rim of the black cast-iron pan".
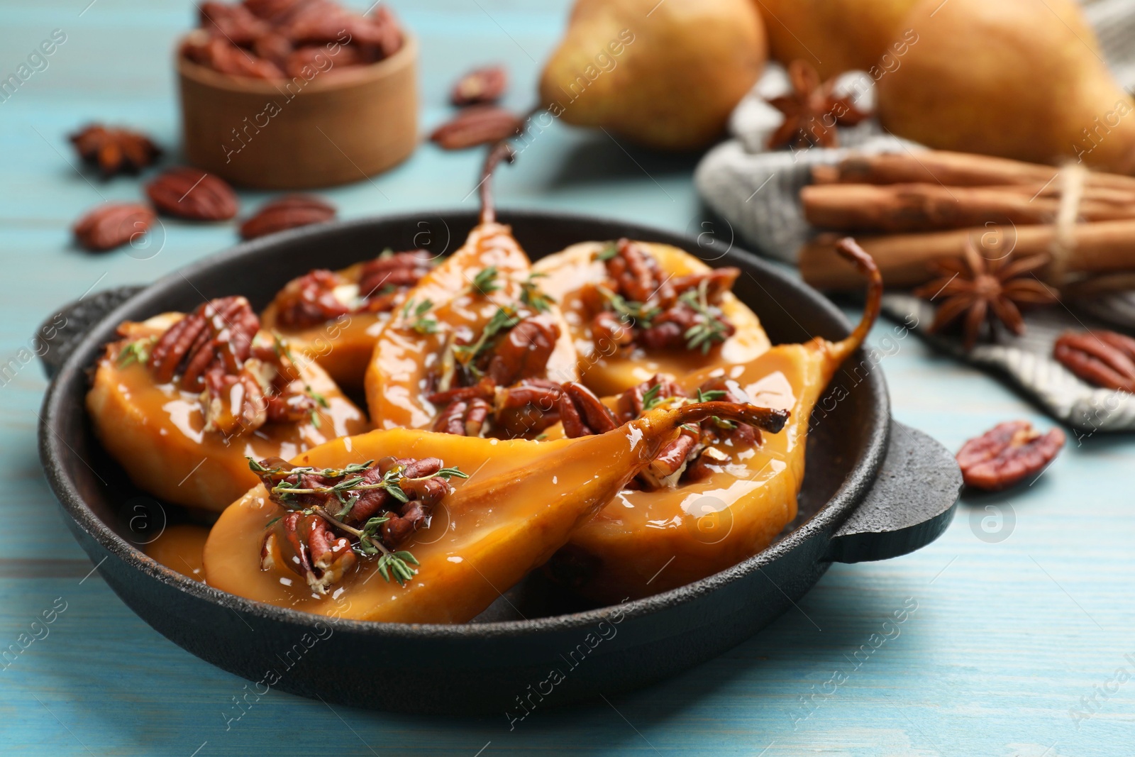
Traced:
[[[473, 216], [473, 213], [469, 210], [432, 211], [430, 215], [434, 218]], [[671, 243], [675, 243], [676, 246], [681, 246], [687, 251], [696, 247], [697, 245], [696, 241], [686, 235], [638, 224], [628, 224], [619, 219], [579, 213], [563, 213], [558, 211], [545, 211], [538, 209], [507, 210], [502, 211], [501, 215], [503, 217], [502, 222], [507, 222], [510, 218], [539, 220], [541, 218], [555, 217], [557, 221], [566, 220], [579, 221], [581, 224], [605, 224], [622, 227], [627, 230], [627, 236], [631, 237], [636, 237], [640, 233], [645, 233], [648, 238], [667, 237]], [[99, 331], [104, 330], [108, 322], [119, 322], [125, 318], [125, 311], [136, 308], [140, 301], [154, 298], [157, 296], [155, 293], [159, 289], [171, 288], [174, 286], [185, 286], [188, 279], [191, 279], [194, 275], [207, 272], [209, 269], [216, 267], [221, 260], [229, 262], [244, 256], [253, 255], [264, 249], [274, 247], [283, 241], [294, 242], [310, 238], [314, 242], [333, 228], [365, 228], [375, 225], [376, 222], [412, 222], [421, 217], [422, 211], [415, 211], [393, 216], [375, 216], [346, 221], [333, 221], [328, 224], [291, 229], [237, 244], [234, 247], [195, 261], [185, 268], [163, 276], [101, 318], [99, 322], [94, 325], [75, 345], [73, 352], [67, 356], [67, 360], [64, 362], [59, 372], [52, 379], [44, 395], [42, 412], [40, 414], [39, 446], [44, 472], [52, 491], [72, 519], [74, 519], [89, 536], [102, 545], [108, 553], [138, 569], [148, 578], [162, 581], [200, 599], [216, 602], [235, 611], [261, 616], [264, 620], [302, 628], [310, 628], [317, 622], [323, 622], [331, 625], [336, 630], [355, 633], [375, 633], [390, 638], [474, 639], [482, 637], [520, 637], [533, 632], [578, 629], [594, 625], [603, 620], [607, 620], [613, 614], [620, 614], [624, 619], [639, 617], [667, 607], [693, 602], [695, 599], [712, 594], [724, 584], [749, 574], [753, 571], [760, 570], [763, 566], [774, 562], [793, 549], [801, 547], [806, 541], [814, 538], [817, 533], [822, 533], [825, 529], [831, 528], [834, 531], [835, 528], [838, 528], [838, 525], [842, 523], [863, 501], [866, 493], [869, 491], [877, 476], [883, 457], [885, 456], [886, 446], [889, 444], [889, 437], [885, 428], [881, 432], [871, 435], [871, 438], [868, 439], [866, 447], [861, 451], [859, 461], [856, 463], [851, 473], [847, 477], [835, 494], [833, 494], [832, 497], [821, 506], [815, 515], [799, 524], [781, 540], [774, 542], [770, 547], [766, 547], [753, 557], [725, 569], [720, 573], [715, 573], [714, 575], [687, 583], [676, 589], [645, 597], [642, 599], [627, 600], [620, 605], [608, 605], [606, 607], [588, 609], [580, 613], [521, 621], [461, 624], [387, 623], [379, 621], [347, 620], [329, 615], [304, 613], [228, 594], [191, 579], [173, 569], [166, 567], [152, 557], [146, 556], [141, 549], [118, 536], [118, 533], [108, 527], [94, 513], [94, 511], [87, 506], [64, 469], [61, 462], [61, 449], [62, 446], [67, 446], [69, 449], [69, 445], [67, 445], [67, 441], [59, 436], [59, 432], [56, 430], [56, 426], [59, 424], [57, 420], [60, 412], [59, 405], [64, 402], [66, 396], [60, 392], [60, 386], [69, 384], [74, 380], [82, 380], [76, 377], [76, 373], [79, 376], [85, 373], [87, 368], [85, 363], [87, 361], [81, 362], [81, 360], [86, 354], [98, 354], [98, 350], [101, 350], [102, 345], [106, 344], [107, 337], [100, 337]], [[521, 246], [523, 246], [522, 241]], [[826, 310], [830, 316], [834, 317], [842, 329], [850, 333], [850, 323], [848, 323], [847, 318], [843, 317], [839, 309], [836, 309], [835, 305], [829, 302], [825, 297], [812, 291], [806, 284], [791, 278], [776, 267], [770, 264], [767, 261], [737, 247], [731, 249], [718, 260], [725, 261], [730, 258], [741, 259], [747, 263], [756, 264], [757, 267], [764, 269], [767, 275], [779, 279], [779, 284], [781, 286], [802, 291], [805, 294], [810, 296], [817, 306], [822, 310]], [[856, 353], [852, 353], [852, 355], [855, 354]], [[890, 397], [888, 395], [886, 385], [883, 380], [881, 371], [872, 371], [868, 380], [865, 382], [868, 385], [868, 390], [874, 395], [874, 413], [883, 419], [886, 419], [886, 422], [889, 422]]]

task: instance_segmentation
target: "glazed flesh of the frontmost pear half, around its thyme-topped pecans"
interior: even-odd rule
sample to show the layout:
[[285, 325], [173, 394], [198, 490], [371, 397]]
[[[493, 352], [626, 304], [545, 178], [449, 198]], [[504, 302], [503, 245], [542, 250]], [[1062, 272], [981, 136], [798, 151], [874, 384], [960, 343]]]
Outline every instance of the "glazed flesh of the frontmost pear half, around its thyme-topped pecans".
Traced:
[[328, 595], [312, 591], [286, 565], [262, 570], [266, 529], [285, 511], [263, 486], [217, 521], [204, 549], [209, 586], [309, 613], [405, 623], [463, 623], [499, 591], [538, 567], [571, 531], [611, 501], [678, 434], [661, 411], [602, 436], [527, 441], [410, 429], [335, 439], [293, 462], [342, 468], [387, 455], [439, 457], [469, 479], [435, 508], [430, 524], [400, 546], [419, 561], [404, 587], [376, 574], [363, 557]]

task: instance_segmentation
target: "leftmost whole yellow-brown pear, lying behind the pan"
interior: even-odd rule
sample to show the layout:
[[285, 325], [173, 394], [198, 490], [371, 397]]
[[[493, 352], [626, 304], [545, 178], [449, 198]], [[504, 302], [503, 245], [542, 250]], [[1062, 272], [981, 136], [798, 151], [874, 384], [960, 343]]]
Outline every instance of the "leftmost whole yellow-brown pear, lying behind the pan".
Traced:
[[765, 65], [751, 0], [578, 0], [540, 77], [553, 116], [650, 148], [712, 142]]

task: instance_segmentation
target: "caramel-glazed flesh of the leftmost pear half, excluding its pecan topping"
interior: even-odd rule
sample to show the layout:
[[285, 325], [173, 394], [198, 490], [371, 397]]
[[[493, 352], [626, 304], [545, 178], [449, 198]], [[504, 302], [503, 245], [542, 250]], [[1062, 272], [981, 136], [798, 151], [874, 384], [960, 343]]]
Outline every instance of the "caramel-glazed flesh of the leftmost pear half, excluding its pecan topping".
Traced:
[[127, 323], [127, 339], [107, 346], [95, 365], [86, 407], [102, 446], [134, 483], [167, 502], [220, 511], [259, 482], [245, 456], [294, 457], [338, 436], [360, 434], [367, 419], [318, 364], [297, 356], [303, 380], [327, 399], [317, 422], [267, 423], [226, 439], [204, 431], [196, 394], [174, 384], [155, 385], [138, 363], [119, 364], [129, 339], [160, 334], [178, 316]]

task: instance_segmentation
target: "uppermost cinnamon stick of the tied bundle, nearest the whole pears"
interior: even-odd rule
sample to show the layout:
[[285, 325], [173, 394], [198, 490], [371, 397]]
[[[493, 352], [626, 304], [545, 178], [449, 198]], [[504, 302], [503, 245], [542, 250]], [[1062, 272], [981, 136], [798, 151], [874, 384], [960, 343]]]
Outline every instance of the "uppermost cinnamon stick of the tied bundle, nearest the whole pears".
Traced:
[[[1026, 163], [966, 152], [927, 150], [884, 154], [855, 154], [839, 166], [813, 168], [815, 184], [944, 184], [947, 186], [997, 186], [1048, 184], [1059, 173], [1054, 166]], [[1135, 177], [1090, 173], [1085, 186], [1135, 192]]]

